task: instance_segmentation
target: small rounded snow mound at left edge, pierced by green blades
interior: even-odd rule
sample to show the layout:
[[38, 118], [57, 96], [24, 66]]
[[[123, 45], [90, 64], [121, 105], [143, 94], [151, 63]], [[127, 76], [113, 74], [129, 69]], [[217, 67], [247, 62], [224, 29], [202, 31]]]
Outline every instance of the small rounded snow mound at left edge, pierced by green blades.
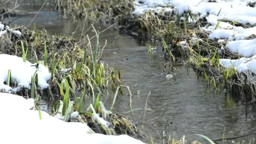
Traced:
[[[31, 77], [37, 70], [36, 64], [31, 64], [29, 61], [23, 62], [21, 57], [7, 54], [0, 54], [0, 61], [0, 89], [5, 89], [5, 91], [9, 92], [20, 91], [21, 88], [30, 89]], [[16, 81], [19, 87], [11, 88], [4, 84], [7, 81], [8, 69], [11, 70], [12, 83]], [[51, 78], [51, 73], [43, 64], [39, 64], [37, 74], [40, 88], [47, 88], [47, 81]]]

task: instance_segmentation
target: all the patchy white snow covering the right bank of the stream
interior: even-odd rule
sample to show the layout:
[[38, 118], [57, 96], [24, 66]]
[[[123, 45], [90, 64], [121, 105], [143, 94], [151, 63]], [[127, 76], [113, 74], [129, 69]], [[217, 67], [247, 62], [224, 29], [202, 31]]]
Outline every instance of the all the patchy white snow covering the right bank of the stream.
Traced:
[[[256, 39], [247, 40], [251, 35], [256, 35], [256, 8], [250, 6], [255, 2], [256, 0], [134, 0], [135, 10], [132, 13], [141, 16], [148, 11], [158, 14], [175, 11], [181, 15], [190, 11], [199, 18], [205, 17], [209, 25], [201, 30], [210, 32], [209, 39], [227, 41], [226, 48], [242, 57], [236, 60], [220, 59], [221, 65], [228, 68], [233, 65], [238, 72], [250, 70], [256, 73]], [[236, 27], [234, 23], [250, 27]], [[223, 49], [220, 48], [219, 52]]]

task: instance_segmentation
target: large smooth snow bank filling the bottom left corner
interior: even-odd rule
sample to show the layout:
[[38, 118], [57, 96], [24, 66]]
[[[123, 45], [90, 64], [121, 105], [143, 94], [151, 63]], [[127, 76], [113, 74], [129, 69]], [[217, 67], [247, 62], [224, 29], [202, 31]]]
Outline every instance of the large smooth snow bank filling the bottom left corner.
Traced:
[[67, 123], [41, 111], [31, 110], [33, 99], [0, 93], [1, 144], [143, 144], [127, 135], [90, 134], [83, 123]]

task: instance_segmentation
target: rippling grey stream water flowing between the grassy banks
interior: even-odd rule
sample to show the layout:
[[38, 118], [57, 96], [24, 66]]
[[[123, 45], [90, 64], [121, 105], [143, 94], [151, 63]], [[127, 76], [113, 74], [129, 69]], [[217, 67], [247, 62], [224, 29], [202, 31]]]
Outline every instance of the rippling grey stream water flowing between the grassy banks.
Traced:
[[[41, 0], [36, 0], [33, 7], [24, 4], [20, 10], [37, 13], [42, 4]], [[13, 23], [27, 26], [34, 16], [25, 16]], [[44, 28], [52, 34], [74, 34], [74, 37], [79, 37], [81, 32], [85, 31], [83, 27], [88, 27], [86, 20], [64, 19], [53, 10], [51, 3], [43, 8], [29, 27], [33, 27], [33, 23], [37, 28]], [[101, 25], [96, 27], [99, 31], [104, 29]], [[76, 32], [72, 33], [74, 31]], [[89, 30], [87, 34], [93, 36], [94, 32]], [[245, 135], [256, 130], [256, 108], [253, 104], [242, 103], [239, 97], [224, 89], [214, 91], [206, 85], [203, 77], [197, 77], [193, 69], [177, 67], [179, 71], [174, 77], [166, 78], [163, 73], [161, 48], [147, 53], [148, 48], [137, 40], [119, 35], [111, 29], [100, 35], [101, 42], [106, 39], [109, 44], [114, 39], [116, 41], [115, 45], [106, 51], [102, 61], [121, 69], [123, 85], [129, 85], [133, 93], [132, 109], [141, 109], [134, 111], [134, 115], [128, 113], [128, 117], [133, 119], [138, 127], [145, 122], [141, 130], [146, 135], [152, 135], [155, 139], [169, 135], [180, 139], [185, 135], [185, 139], [192, 141], [200, 139], [194, 135], [196, 133], [211, 139], [222, 138], [224, 128], [226, 137]], [[148, 96], [149, 91], [151, 94]], [[105, 93], [102, 98], [105, 99], [105, 106], [110, 107], [114, 94], [110, 91]], [[125, 94], [117, 96], [115, 113], [131, 110], [130, 97]], [[146, 100], [147, 108], [152, 110], [147, 111], [144, 117]]]

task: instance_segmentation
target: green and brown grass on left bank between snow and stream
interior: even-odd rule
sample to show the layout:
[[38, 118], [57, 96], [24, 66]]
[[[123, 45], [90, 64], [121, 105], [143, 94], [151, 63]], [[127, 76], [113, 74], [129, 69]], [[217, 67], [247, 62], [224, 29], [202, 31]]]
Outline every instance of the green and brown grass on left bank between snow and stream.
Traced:
[[[120, 85], [121, 70], [118, 69], [115, 74], [114, 68], [100, 61], [103, 55], [99, 54], [99, 49], [104, 51], [107, 46], [107, 41], [104, 45], [100, 44], [100, 32], [96, 32], [96, 43], [91, 45], [88, 35], [74, 39], [61, 35], [51, 36], [45, 30], [25, 27], [16, 29], [21, 31], [20, 37], [12, 34], [1, 37], [2, 52], [16, 53], [24, 60], [44, 64], [51, 72], [51, 79], [48, 81], [50, 86], [46, 90], [41, 91], [38, 88], [36, 71], [31, 77], [31, 91], [23, 89], [17, 94], [36, 99], [58, 99], [53, 106], [53, 115], [67, 122], [87, 123], [98, 133], [141, 135], [127, 117], [107, 110], [101, 102], [102, 93], [108, 85], [113, 91], [117, 91], [115, 98], [117, 93], [121, 92], [120, 87], [124, 86]], [[26, 43], [26, 52], [23, 43]], [[44, 61], [40, 61], [41, 59]], [[8, 72], [7, 82], [10, 81], [11, 71]], [[131, 95], [131, 92], [129, 94]], [[85, 103], [85, 99], [91, 100], [91, 103]], [[111, 110], [114, 104], [115, 100]], [[74, 112], [78, 112], [79, 116], [72, 117]], [[108, 121], [110, 126], [106, 126], [104, 120]]]

